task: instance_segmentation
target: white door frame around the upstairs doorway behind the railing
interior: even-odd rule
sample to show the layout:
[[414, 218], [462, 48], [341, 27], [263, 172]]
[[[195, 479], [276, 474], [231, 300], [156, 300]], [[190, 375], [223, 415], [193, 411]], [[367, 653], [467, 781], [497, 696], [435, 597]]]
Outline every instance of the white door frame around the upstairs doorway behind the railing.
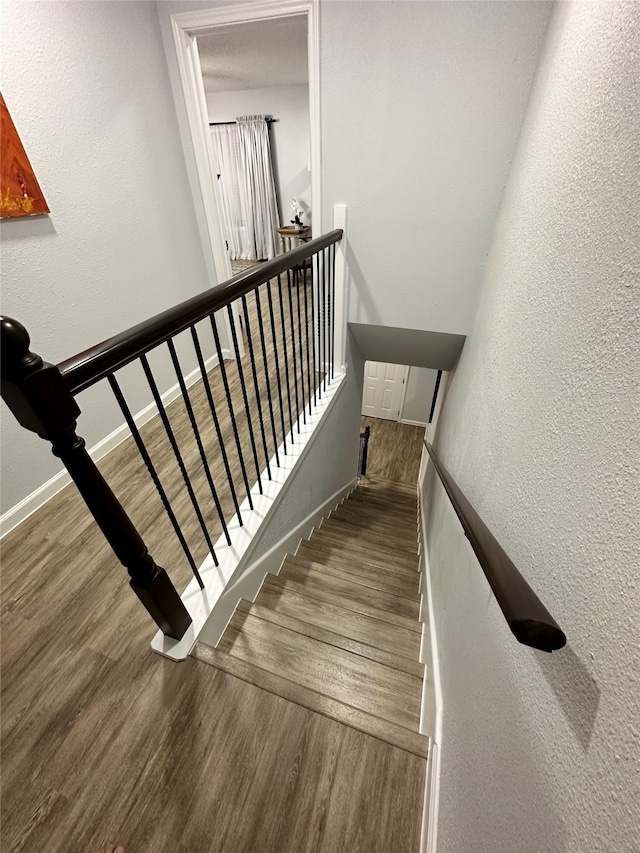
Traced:
[[[251, 23], [273, 18], [306, 15], [307, 60], [309, 64], [309, 140], [311, 148], [311, 211], [313, 222], [322, 228], [322, 198], [320, 176], [320, 32], [317, 0], [262, 0], [262, 2], [230, 3], [213, 9], [177, 12], [170, 16], [178, 72], [184, 98], [189, 134], [196, 163], [198, 182], [218, 283], [231, 277], [231, 261], [226, 249], [222, 227], [220, 190], [215, 180], [213, 146], [207, 133], [209, 116], [200, 69], [197, 36], [229, 24]], [[231, 341], [227, 313], [223, 312], [227, 339]], [[234, 322], [238, 343], [243, 355], [242, 334], [237, 308]]]

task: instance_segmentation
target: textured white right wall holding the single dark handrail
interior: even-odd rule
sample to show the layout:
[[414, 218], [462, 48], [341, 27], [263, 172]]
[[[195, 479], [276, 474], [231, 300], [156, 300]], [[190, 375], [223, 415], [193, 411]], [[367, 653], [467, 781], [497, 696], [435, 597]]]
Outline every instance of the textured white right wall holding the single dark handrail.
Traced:
[[635, 3], [557, 5], [438, 426], [568, 637], [515, 641], [428, 477], [438, 853], [638, 850], [639, 41]]

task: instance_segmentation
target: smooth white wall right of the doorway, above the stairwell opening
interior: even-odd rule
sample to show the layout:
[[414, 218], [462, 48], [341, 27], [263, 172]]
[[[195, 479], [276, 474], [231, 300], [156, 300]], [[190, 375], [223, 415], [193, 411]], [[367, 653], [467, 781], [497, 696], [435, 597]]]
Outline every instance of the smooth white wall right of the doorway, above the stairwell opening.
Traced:
[[550, 4], [323, 2], [323, 209], [349, 320], [466, 333]]

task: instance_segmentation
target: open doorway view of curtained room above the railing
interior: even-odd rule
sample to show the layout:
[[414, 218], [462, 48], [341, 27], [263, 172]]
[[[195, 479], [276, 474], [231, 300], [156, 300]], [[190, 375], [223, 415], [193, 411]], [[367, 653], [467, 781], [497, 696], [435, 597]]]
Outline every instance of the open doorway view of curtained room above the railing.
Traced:
[[307, 18], [216, 27], [197, 48], [224, 236], [246, 267], [280, 254], [294, 217], [310, 231]]

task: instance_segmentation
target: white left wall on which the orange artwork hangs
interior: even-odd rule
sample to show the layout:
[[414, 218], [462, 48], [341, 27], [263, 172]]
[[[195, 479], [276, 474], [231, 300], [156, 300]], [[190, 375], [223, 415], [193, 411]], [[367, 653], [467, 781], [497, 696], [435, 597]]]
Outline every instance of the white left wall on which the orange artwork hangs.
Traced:
[[[60, 361], [207, 288], [155, 5], [1, 7], [2, 92], [51, 215], [3, 221], [2, 310]], [[175, 383], [159, 360], [162, 389]], [[125, 380], [132, 409], [150, 400]], [[89, 446], [123, 418], [79, 398]], [[2, 409], [2, 510], [60, 470]]]

